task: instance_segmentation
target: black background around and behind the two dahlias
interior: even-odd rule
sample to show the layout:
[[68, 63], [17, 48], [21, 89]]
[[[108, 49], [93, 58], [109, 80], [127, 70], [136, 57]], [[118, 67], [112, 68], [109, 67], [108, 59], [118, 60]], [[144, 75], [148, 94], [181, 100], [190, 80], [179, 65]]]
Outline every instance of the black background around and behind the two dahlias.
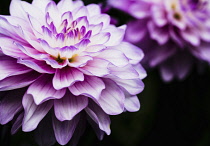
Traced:
[[[31, 2], [30, 0], [28, 0]], [[83, 0], [85, 4], [105, 0]], [[0, 14], [8, 15], [10, 0], [0, 1]], [[111, 15], [125, 23], [129, 17], [117, 10]], [[183, 81], [164, 83], [157, 70], [148, 70], [145, 90], [139, 94], [141, 109], [111, 116], [110, 136], [99, 141], [87, 125], [78, 146], [210, 146], [210, 68], [196, 69]], [[11, 123], [0, 126], [0, 145], [36, 145], [33, 132], [11, 136]], [[58, 144], [56, 144], [58, 145]]]

